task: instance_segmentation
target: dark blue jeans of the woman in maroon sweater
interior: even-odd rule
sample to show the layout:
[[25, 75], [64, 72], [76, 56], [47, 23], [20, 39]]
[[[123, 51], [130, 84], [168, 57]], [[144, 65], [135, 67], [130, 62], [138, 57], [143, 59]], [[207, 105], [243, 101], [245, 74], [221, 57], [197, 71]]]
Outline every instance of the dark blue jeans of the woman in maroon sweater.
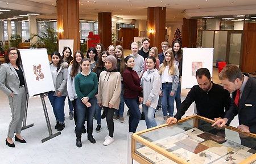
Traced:
[[141, 111], [139, 110], [139, 98], [124, 98], [125, 104], [129, 109], [129, 132], [136, 132], [139, 120], [141, 120]]

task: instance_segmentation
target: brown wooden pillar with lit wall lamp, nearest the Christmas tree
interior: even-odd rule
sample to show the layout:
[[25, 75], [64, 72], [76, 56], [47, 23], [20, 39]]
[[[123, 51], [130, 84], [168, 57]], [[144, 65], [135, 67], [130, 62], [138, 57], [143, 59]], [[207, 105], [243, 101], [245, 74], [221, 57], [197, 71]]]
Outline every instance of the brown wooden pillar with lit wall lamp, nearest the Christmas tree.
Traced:
[[[150, 33], [150, 30], [154, 33]], [[166, 37], [166, 7], [147, 8], [147, 36], [150, 46], [156, 46], [161, 51], [161, 43]]]

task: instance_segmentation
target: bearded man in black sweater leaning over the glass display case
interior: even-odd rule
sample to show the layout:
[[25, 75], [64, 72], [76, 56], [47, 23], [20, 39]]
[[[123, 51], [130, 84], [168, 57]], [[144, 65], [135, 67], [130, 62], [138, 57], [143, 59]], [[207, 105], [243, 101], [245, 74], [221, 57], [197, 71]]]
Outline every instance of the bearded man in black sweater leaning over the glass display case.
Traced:
[[188, 92], [187, 97], [181, 103], [177, 114], [168, 118], [167, 123], [176, 123], [185, 114], [192, 102], [195, 101], [197, 114], [209, 119], [224, 118], [225, 112], [229, 110], [230, 94], [220, 85], [214, 84], [207, 68], [200, 68], [196, 71], [196, 80], [199, 85], [195, 85]]

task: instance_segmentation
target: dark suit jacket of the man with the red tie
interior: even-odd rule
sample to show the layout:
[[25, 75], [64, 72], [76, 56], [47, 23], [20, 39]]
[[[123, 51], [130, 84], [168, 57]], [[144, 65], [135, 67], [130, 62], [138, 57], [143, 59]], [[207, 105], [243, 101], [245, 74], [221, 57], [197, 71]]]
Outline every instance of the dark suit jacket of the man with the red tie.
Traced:
[[[247, 74], [243, 74], [249, 76]], [[226, 111], [225, 118], [228, 118], [227, 125], [230, 124], [234, 116], [238, 114], [239, 124], [244, 124], [249, 127], [251, 133], [256, 133], [256, 79], [249, 76], [249, 79], [243, 90], [242, 97], [238, 102], [239, 108], [234, 103], [237, 90], [232, 93], [231, 105], [228, 111]]]

